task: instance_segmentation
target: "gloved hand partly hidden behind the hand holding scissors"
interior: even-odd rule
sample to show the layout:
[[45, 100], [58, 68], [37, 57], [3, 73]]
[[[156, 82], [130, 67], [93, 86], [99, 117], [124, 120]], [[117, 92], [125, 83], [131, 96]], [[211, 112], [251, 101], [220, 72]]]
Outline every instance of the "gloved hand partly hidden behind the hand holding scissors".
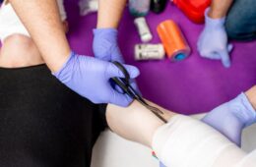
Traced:
[[117, 44], [117, 29], [96, 28], [94, 29], [94, 34], [93, 50], [96, 58], [104, 61], [124, 63]]

